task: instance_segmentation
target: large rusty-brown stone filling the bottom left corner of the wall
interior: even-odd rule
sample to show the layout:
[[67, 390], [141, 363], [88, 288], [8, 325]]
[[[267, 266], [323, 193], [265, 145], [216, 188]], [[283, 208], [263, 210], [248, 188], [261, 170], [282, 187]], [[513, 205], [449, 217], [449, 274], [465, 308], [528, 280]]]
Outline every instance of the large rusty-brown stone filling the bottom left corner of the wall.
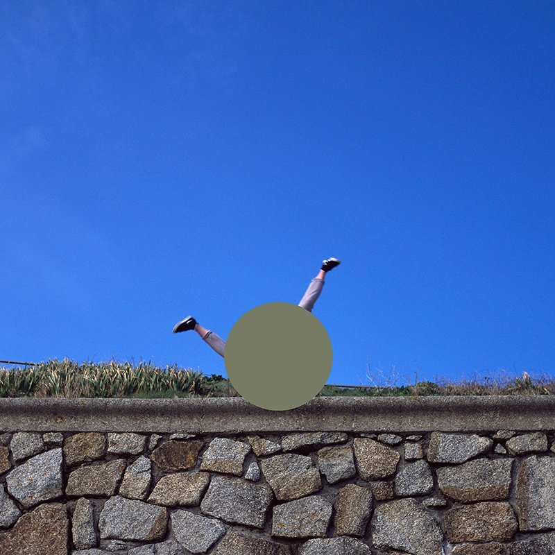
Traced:
[[0, 533], [0, 554], [67, 555], [68, 528], [65, 504], [40, 505]]

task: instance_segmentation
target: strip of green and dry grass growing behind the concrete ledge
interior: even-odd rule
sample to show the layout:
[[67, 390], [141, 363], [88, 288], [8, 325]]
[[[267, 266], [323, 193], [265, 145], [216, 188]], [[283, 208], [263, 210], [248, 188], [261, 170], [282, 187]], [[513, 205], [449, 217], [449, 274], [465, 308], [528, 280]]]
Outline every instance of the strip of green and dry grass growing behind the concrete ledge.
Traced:
[[[391, 376], [376, 384], [368, 375], [372, 386], [339, 387], [326, 385], [321, 396], [378, 395], [553, 395], [555, 378], [543, 375], [532, 378], [527, 373], [509, 377], [498, 373], [495, 377], [461, 380], [457, 383], [445, 379], [435, 382], [414, 380], [413, 385], [397, 384]], [[404, 380], [408, 382], [407, 379]], [[383, 385], [385, 383], [385, 385]], [[64, 359], [46, 361], [37, 366], [17, 368], [0, 367], [1, 397], [75, 397], [75, 398], [207, 398], [238, 397], [228, 379], [221, 375], [204, 375], [200, 371], [167, 366], [157, 368], [151, 364], [84, 363]]]

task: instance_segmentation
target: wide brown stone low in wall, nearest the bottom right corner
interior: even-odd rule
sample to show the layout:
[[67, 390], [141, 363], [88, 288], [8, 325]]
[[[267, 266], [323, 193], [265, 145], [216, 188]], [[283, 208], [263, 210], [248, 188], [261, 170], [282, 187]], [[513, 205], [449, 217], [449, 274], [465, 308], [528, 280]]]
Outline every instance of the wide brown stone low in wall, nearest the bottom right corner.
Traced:
[[517, 528], [509, 503], [486, 501], [456, 506], [443, 515], [445, 537], [451, 543], [507, 542]]

